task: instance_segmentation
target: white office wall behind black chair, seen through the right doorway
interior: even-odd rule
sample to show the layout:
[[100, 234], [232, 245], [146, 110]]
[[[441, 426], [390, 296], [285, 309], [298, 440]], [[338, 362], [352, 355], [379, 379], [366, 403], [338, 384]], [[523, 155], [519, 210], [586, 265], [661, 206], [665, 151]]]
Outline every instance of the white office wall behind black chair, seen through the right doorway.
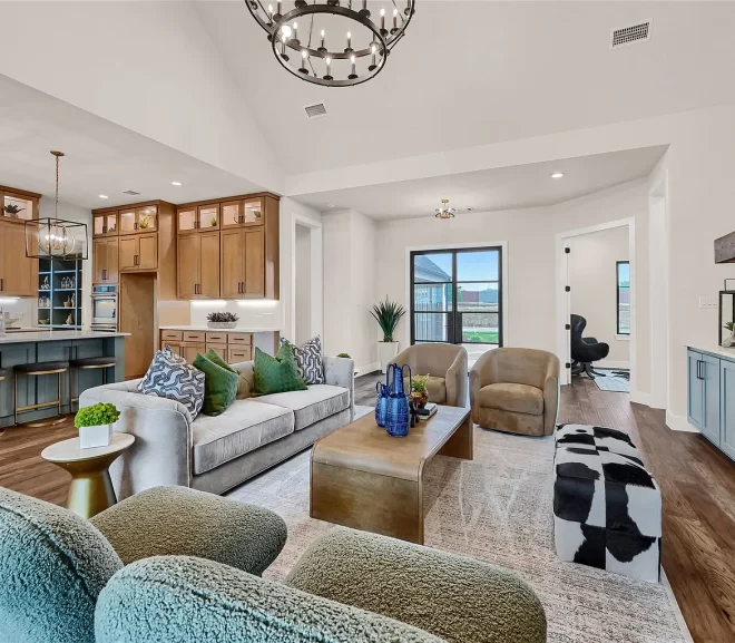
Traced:
[[629, 338], [617, 334], [616, 262], [628, 261], [628, 228], [614, 227], [570, 240], [571, 312], [587, 320], [586, 334], [609, 344], [600, 368], [628, 368]]

